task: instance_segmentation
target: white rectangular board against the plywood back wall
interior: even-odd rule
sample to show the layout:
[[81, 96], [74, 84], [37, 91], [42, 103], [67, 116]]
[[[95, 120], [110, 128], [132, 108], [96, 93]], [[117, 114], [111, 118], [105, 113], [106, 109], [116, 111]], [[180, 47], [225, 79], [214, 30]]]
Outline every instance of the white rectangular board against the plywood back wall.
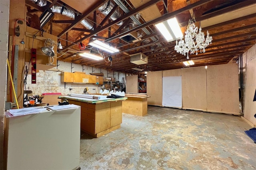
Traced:
[[164, 107], [182, 107], [182, 79], [181, 76], [162, 78], [162, 106]]

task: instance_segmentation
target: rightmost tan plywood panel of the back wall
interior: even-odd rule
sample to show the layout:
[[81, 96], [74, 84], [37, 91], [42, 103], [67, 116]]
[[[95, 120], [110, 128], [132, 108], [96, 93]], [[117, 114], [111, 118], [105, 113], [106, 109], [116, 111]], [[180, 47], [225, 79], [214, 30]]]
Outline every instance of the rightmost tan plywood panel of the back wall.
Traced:
[[238, 65], [210, 65], [206, 69], [207, 111], [239, 113]]

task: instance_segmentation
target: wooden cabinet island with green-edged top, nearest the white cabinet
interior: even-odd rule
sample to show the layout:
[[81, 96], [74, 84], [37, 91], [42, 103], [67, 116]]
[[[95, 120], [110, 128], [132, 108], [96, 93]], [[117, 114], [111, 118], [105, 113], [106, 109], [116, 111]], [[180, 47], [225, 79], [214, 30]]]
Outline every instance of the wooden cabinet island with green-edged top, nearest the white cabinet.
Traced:
[[122, 98], [100, 100], [80, 97], [60, 96], [70, 104], [81, 106], [81, 130], [98, 138], [121, 127]]

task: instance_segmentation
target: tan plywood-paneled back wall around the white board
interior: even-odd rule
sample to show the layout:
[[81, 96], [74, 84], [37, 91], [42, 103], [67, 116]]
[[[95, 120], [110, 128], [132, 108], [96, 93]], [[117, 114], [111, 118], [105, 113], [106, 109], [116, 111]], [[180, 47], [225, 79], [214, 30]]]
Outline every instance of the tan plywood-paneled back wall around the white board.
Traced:
[[149, 72], [148, 105], [162, 106], [162, 77], [180, 75], [182, 109], [240, 115], [236, 63]]

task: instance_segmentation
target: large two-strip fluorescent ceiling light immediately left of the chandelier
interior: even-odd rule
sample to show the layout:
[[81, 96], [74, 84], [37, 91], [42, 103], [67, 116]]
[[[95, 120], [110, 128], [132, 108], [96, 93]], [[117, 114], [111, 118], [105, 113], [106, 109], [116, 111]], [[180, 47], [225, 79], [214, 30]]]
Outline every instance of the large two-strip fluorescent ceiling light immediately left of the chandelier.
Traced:
[[168, 42], [183, 37], [180, 26], [175, 17], [155, 24], [155, 26]]

